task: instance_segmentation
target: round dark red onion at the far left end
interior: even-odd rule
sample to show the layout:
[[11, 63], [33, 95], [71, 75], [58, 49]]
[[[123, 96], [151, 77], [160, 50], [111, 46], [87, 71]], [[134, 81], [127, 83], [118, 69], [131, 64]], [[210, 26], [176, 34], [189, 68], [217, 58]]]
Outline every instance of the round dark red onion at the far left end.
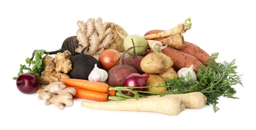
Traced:
[[26, 94], [35, 93], [39, 88], [39, 78], [32, 72], [25, 72], [21, 74], [16, 81], [17, 88]]

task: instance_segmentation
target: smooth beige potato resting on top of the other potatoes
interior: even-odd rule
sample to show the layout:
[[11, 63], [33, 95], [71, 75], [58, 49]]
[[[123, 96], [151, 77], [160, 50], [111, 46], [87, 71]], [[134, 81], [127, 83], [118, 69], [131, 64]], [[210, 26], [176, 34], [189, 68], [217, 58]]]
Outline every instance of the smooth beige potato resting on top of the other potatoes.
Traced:
[[173, 65], [172, 59], [164, 53], [149, 53], [140, 62], [141, 70], [145, 73], [162, 73]]

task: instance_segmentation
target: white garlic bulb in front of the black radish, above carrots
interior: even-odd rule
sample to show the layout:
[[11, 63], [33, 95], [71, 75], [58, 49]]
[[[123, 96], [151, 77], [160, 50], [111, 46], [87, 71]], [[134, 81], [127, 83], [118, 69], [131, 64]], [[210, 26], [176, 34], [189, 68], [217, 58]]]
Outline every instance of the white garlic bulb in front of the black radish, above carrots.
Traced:
[[108, 79], [108, 72], [104, 69], [98, 68], [97, 64], [94, 65], [93, 70], [88, 76], [90, 81], [105, 82]]

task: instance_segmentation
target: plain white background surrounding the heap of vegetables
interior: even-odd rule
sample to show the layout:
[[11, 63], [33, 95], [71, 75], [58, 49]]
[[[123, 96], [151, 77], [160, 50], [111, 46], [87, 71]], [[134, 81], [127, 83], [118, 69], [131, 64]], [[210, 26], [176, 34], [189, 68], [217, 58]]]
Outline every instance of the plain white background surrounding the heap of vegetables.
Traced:
[[[2, 0], [0, 2], [1, 93], [0, 129], [248, 129], [255, 118], [255, 4], [252, 0]], [[235, 59], [241, 85], [233, 86], [240, 99], [219, 98], [212, 106], [186, 108], [177, 116], [154, 112], [106, 111], [83, 107], [83, 99], [60, 110], [46, 106], [38, 94], [16, 88], [20, 64], [34, 49], [59, 49], [76, 35], [78, 20], [102, 17], [124, 27], [129, 34], [170, 29], [191, 17], [184, 35], [218, 61]]]

